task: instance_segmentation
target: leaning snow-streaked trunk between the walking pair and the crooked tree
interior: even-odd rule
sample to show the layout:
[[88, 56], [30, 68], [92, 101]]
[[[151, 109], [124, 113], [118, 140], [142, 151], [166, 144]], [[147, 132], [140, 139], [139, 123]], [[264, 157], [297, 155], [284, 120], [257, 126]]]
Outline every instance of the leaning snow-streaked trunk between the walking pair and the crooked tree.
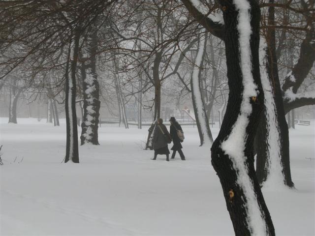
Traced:
[[205, 36], [201, 36], [198, 40], [197, 54], [190, 79], [192, 105], [200, 138], [200, 146], [210, 146], [213, 143], [213, 138], [209, 126], [209, 119], [207, 117], [200, 84], [202, 71], [201, 67], [205, 49], [206, 39]]

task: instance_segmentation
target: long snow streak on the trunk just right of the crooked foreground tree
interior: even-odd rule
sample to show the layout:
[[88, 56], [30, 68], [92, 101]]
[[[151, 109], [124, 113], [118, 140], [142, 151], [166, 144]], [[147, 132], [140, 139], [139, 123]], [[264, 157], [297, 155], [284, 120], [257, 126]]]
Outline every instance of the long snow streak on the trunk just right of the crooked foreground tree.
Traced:
[[260, 78], [265, 94], [265, 115], [267, 119], [267, 172], [268, 178], [264, 182], [264, 187], [284, 185], [283, 167], [281, 164], [281, 139], [279, 136], [279, 123], [276, 114], [275, 96], [272, 85], [268, 78], [266, 70], [266, 50], [267, 44], [264, 38], [260, 38], [259, 61], [260, 61]]

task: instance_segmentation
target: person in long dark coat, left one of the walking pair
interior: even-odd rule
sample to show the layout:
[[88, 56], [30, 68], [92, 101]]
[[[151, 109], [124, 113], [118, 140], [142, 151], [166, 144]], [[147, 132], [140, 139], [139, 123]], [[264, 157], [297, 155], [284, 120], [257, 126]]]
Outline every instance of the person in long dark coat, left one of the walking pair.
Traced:
[[153, 136], [153, 149], [154, 158], [157, 159], [157, 155], [166, 155], [166, 161], [169, 161], [169, 150], [167, 147], [167, 140], [171, 140], [171, 136], [168, 133], [166, 126], [163, 124], [163, 119], [158, 118], [158, 123]]

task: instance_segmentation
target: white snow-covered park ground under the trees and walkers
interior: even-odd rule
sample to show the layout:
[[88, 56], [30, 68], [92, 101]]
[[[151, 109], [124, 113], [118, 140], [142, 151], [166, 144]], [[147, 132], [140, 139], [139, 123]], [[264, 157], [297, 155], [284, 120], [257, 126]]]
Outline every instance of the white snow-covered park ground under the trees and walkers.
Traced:
[[[151, 160], [146, 128], [101, 127], [100, 146], [80, 147], [80, 164], [64, 164], [64, 120], [7, 120], [0, 118], [0, 235], [234, 235], [196, 128], [184, 127], [187, 161]], [[290, 130], [296, 189], [263, 189], [276, 235], [315, 235], [314, 144], [314, 121]]]

